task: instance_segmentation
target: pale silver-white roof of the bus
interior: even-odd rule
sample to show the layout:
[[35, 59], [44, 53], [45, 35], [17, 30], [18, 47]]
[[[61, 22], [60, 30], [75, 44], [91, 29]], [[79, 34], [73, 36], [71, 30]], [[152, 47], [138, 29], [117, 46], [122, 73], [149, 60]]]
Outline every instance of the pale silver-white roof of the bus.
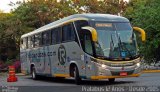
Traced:
[[75, 21], [75, 20], [92, 20], [92, 21], [108, 21], [108, 22], [129, 22], [129, 20], [125, 17], [117, 16], [117, 15], [111, 15], [111, 14], [74, 14], [68, 17], [65, 17], [63, 19], [54, 21], [50, 24], [47, 24], [45, 26], [42, 26], [32, 32], [26, 33], [21, 36], [21, 38], [28, 37], [31, 35], [34, 35], [36, 33], [43, 32], [45, 30], [57, 27], [59, 25], [62, 25], [64, 23]]

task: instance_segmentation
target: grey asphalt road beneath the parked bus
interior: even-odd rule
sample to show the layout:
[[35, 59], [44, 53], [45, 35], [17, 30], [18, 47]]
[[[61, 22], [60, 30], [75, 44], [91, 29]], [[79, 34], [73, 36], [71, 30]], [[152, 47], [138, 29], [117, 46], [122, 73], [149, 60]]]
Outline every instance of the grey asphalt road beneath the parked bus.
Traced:
[[73, 79], [17, 76], [17, 82], [7, 82], [7, 75], [0, 75], [0, 92], [160, 92], [160, 73], [145, 73], [136, 78], [119, 78], [114, 83], [108, 80], [83, 80], [75, 85]]

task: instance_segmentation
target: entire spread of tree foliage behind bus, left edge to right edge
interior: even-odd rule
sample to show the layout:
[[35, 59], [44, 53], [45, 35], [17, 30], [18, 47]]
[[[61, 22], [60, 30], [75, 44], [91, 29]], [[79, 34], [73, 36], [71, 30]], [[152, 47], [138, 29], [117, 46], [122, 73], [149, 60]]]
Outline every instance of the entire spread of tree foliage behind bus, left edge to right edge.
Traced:
[[132, 24], [145, 29], [147, 41], [140, 52], [148, 61], [159, 60], [160, 0], [28, 0], [11, 13], [0, 11], [0, 53], [19, 55], [20, 36], [50, 22], [78, 13], [105, 13], [133, 18]]

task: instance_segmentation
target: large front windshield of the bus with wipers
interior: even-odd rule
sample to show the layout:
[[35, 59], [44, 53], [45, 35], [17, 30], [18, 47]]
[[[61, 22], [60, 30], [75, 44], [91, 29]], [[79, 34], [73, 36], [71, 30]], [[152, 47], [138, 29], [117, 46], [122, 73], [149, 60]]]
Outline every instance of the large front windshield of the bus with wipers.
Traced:
[[95, 22], [95, 28], [98, 34], [97, 57], [115, 60], [138, 56], [136, 36], [130, 23]]

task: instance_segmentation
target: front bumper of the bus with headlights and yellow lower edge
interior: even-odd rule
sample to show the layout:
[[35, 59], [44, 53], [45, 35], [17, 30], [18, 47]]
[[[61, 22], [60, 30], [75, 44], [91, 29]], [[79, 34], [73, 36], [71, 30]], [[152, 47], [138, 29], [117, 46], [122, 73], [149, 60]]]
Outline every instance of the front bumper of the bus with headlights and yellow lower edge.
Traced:
[[[109, 79], [109, 78], [126, 78], [138, 77], [141, 74], [140, 60], [136, 59], [131, 62], [112, 63], [112, 66], [95, 63], [97, 66], [96, 73], [90, 76], [91, 79]], [[139, 64], [138, 64], [139, 63]], [[121, 72], [126, 72], [126, 76], [121, 76]]]

